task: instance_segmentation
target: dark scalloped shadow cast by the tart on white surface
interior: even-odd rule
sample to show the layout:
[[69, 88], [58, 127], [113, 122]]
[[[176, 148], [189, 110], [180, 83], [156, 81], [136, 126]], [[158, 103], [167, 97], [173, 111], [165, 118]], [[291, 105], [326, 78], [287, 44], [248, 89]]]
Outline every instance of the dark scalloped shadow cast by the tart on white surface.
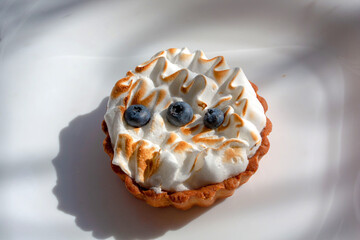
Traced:
[[72, 120], [60, 132], [53, 160], [57, 183], [53, 193], [59, 210], [96, 238], [148, 239], [183, 227], [209, 208], [189, 211], [153, 208], [130, 195], [104, 153], [101, 121], [107, 98], [94, 111]]

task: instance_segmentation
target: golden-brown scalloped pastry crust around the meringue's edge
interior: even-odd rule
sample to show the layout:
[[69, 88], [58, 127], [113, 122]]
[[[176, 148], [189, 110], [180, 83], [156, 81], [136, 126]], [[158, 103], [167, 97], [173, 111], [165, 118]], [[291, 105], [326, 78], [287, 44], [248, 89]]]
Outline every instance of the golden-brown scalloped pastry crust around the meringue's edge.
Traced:
[[[264, 108], [266, 113], [268, 106], [264, 98], [257, 94], [257, 86], [250, 82], [256, 92], [256, 96]], [[236, 188], [246, 183], [249, 178], [256, 172], [259, 167], [260, 159], [269, 151], [270, 142], [267, 136], [272, 130], [272, 123], [269, 118], [266, 118], [266, 125], [261, 132], [261, 145], [249, 159], [249, 164], [246, 170], [237, 176], [228, 178], [220, 183], [210, 184], [199, 189], [187, 190], [181, 192], [163, 191], [157, 194], [154, 190], [145, 189], [135, 182], [131, 177], [124, 173], [119, 166], [112, 164], [114, 157], [114, 150], [111, 145], [109, 132], [105, 121], [102, 122], [102, 130], [106, 134], [103, 142], [104, 151], [109, 155], [111, 161], [111, 168], [124, 181], [127, 190], [136, 198], [144, 200], [153, 207], [167, 207], [173, 206], [181, 210], [187, 210], [192, 206], [198, 205], [201, 207], [209, 207], [217, 199], [230, 197]]]

